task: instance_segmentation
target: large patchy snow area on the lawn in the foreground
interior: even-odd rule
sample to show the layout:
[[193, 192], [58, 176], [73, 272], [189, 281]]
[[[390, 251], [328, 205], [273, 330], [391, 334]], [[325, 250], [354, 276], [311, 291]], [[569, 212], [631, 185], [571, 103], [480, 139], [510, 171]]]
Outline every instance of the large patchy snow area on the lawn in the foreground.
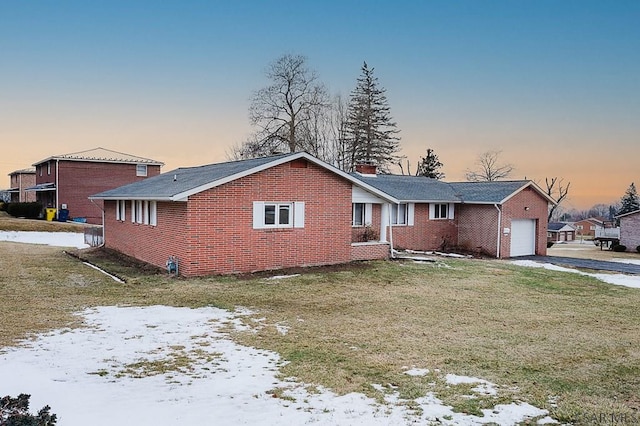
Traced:
[[86, 328], [0, 351], [3, 395], [31, 394], [34, 410], [50, 405], [65, 426], [401, 425], [435, 417], [450, 425], [507, 425], [547, 415], [523, 403], [498, 405], [484, 417], [454, 413], [431, 393], [416, 400], [423, 409], [416, 414], [393, 398], [379, 404], [359, 393], [310, 391], [277, 377], [277, 353], [238, 345], [221, 331], [246, 311], [110, 306], [79, 315]]

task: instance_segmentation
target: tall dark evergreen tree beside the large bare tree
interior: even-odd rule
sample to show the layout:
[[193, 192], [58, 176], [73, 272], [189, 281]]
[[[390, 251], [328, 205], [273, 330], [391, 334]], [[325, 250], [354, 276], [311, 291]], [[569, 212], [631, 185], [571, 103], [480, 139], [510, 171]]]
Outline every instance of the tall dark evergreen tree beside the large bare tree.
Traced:
[[365, 62], [356, 88], [351, 92], [346, 122], [346, 169], [356, 164], [375, 164], [388, 171], [398, 160], [400, 138], [391, 113], [385, 90], [378, 87], [373, 68]]

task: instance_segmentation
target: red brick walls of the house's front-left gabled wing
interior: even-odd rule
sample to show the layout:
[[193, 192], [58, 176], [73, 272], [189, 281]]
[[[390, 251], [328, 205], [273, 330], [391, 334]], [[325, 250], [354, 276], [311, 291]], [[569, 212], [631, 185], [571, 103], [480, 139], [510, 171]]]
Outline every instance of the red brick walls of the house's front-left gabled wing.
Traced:
[[[254, 201], [303, 201], [304, 228], [253, 229]], [[132, 224], [129, 210], [128, 203], [118, 223], [115, 202], [107, 202], [106, 246], [161, 267], [177, 256], [185, 276], [351, 260], [351, 183], [312, 163], [272, 167], [187, 203], [158, 203], [156, 227]]]

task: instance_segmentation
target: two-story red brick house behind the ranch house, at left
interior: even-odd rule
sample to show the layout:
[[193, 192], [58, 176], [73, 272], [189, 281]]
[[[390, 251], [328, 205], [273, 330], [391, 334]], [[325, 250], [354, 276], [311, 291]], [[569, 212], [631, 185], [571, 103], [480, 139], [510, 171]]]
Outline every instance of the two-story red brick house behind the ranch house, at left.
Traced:
[[105, 148], [54, 155], [33, 164], [35, 184], [28, 188], [44, 208], [69, 211], [70, 217], [102, 223], [101, 201], [91, 194], [160, 174], [163, 163]]

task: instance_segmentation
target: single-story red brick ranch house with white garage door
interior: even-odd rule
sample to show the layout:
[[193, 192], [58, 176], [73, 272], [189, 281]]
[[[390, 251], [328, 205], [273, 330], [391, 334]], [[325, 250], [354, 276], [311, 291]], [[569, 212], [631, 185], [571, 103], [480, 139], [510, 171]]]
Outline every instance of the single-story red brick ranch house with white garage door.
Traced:
[[496, 257], [546, 253], [550, 200], [532, 182], [397, 177], [423, 194], [407, 198], [387, 178], [298, 152], [179, 168], [90, 198], [104, 202], [107, 248], [160, 267], [175, 257], [183, 276], [385, 259], [444, 239]]

